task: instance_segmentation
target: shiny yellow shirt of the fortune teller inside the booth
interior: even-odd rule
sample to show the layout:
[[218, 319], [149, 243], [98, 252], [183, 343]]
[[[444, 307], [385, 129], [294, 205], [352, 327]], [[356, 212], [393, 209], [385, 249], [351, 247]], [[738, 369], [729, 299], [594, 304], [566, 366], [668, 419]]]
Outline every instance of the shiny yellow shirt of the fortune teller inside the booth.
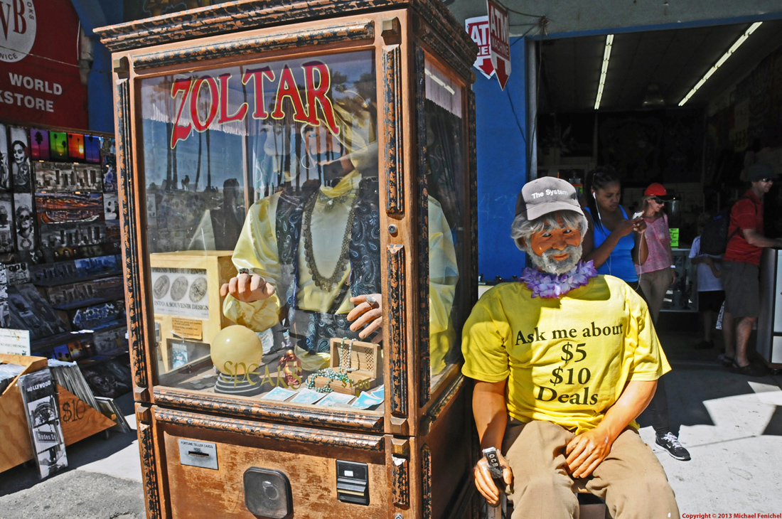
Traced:
[[[361, 175], [353, 171], [333, 188], [321, 186], [321, 192], [336, 198], [353, 191], [341, 204], [325, 209], [325, 202], [317, 199], [310, 224], [315, 263], [321, 275], [328, 277], [334, 271], [342, 248], [348, 213], [353, 205]], [[233, 263], [237, 269], [246, 268], [259, 274], [272, 285], [278, 285], [282, 276], [276, 239], [276, 213], [280, 193], [259, 200], [249, 209], [239, 242], [236, 243]], [[332, 290], [318, 288], [310, 274], [304, 258], [303, 233], [299, 245], [299, 286], [297, 306], [301, 310], [328, 312], [340, 287], [350, 277], [350, 263], [343, 276]], [[429, 332], [430, 364], [432, 373], [439, 373], [445, 367], [445, 356], [457, 347], [450, 310], [454, 303], [454, 292], [458, 281], [458, 268], [454, 240], [448, 227], [443, 209], [435, 199], [429, 197]], [[223, 313], [237, 324], [254, 331], [264, 331], [281, 320], [280, 312], [285, 306], [284, 295], [275, 292], [264, 301], [240, 302], [225, 298]], [[350, 292], [346, 293], [336, 313], [346, 314], [353, 310]], [[302, 360], [304, 370], [317, 370], [328, 363], [326, 353], [307, 353], [296, 348], [296, 355]]]

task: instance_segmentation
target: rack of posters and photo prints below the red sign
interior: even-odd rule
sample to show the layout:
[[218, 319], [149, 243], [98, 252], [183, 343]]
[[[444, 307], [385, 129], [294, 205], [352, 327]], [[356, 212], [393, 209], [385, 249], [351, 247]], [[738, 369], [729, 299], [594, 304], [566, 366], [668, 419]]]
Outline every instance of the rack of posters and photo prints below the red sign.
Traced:
[[0, 328], [109, 398], [131, 389], [119, 229], [112, 135], [0, 120]]

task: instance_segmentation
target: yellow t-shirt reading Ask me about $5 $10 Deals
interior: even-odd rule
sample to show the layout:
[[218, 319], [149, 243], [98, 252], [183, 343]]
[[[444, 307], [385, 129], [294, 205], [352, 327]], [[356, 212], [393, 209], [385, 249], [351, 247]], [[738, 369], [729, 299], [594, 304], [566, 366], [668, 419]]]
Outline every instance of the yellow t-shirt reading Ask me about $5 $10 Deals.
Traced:
[[465, 376], [508, 379], [508, 414], [518, 421], [580, 434], [600, 424], [628, 381], [654, 381], [671, 369], [646, 302], [619, 278], [594, 277], [559, 299], [531, 296], [524, 283], [486, 292], [461, 344]]

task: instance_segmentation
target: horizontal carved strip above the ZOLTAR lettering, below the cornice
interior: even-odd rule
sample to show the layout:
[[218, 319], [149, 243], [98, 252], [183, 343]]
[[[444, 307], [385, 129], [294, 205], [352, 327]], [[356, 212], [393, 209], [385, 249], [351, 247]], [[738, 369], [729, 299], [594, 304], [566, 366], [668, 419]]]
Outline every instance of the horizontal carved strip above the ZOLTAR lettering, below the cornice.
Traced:
[[133, 67], [135, 70], [145, 70], [156, 66], [180, 65], [206, 59], [231, 58], [283, 48], [322, 45], [341, 41], [361, 41], [373, 38], [375, 38], [375, 24], [371, 22], [326, 27], [317, 30], [298, 30], [274, 36], [242, 38], [214, 45], [194, 45], [171, 51], [149, 52], [149, 54], [135, 57], [133, 59]]

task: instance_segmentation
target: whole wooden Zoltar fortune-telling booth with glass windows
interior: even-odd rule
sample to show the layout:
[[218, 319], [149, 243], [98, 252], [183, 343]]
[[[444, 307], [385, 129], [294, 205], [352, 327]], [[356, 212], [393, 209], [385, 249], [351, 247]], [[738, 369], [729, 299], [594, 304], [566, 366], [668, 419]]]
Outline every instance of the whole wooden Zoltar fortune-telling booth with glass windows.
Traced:
[[245, 0], [96, 32], [149, 517], [472, 516], [465, 31]]

